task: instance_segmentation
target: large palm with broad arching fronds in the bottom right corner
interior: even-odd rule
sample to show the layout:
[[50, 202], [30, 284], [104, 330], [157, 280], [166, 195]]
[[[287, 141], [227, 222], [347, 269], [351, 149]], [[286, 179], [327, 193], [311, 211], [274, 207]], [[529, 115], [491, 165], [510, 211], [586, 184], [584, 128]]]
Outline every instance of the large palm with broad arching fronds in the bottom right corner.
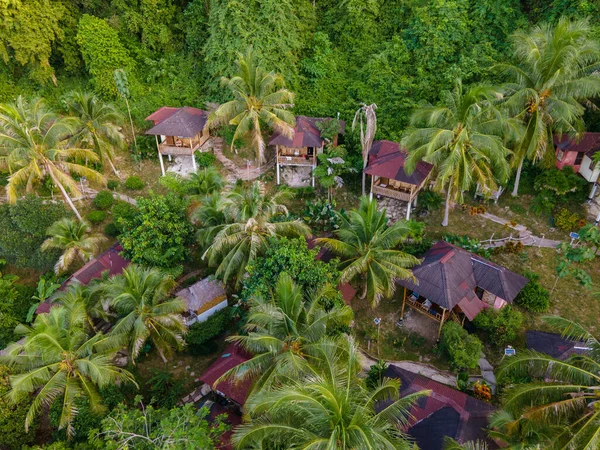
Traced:
[[543, 320], [563, 337], [584, 341], [590, 350], [564, 361], [533, 351], [506, 360], [500, 366], [501, 379], [533, 381], [509, 387], [503, 407], [514, 420], [504, 420], [504, 428], [530, 431], [554, 427], [560, 431], [545, 433], [549, 439], [540, 443], [543, 448], [596, 449], [600, 446], [600, 342], [570, 320], [554, 316]]

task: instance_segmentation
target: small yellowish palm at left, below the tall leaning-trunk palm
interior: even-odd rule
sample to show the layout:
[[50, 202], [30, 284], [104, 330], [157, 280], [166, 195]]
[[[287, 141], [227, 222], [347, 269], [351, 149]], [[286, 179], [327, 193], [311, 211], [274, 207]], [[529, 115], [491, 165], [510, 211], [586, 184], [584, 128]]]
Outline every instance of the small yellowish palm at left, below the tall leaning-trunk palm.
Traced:
[[42, 250], [60, 249], [63, 254], [54, 265], [54, 272], [60, 274], [66, 271], [76, 259], [82, 262], [91, 261], [100, 250], [100, 245], [106, 239], [100, 234], [89, 234], [90, 226], [85, 222], [63, 218], [46, 231], [50, 236], [42, 243]]

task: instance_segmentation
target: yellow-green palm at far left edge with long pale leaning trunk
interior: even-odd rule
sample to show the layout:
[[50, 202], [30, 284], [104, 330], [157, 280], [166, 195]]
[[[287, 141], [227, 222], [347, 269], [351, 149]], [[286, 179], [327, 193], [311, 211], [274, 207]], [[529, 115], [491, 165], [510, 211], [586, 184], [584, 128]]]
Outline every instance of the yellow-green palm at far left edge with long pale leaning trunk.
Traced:
[[0, 105], [0, 164], [10, 172], [6, 195], [15, 203], [20, 191], [33, 192], [36, 185], [48, 177], [71, 207], [79, 220], [81, 215], [69, 193], [80, 196], [81, 191], [72, 175], [105, 183], [97, 171], [76, 162], [98, 161], [89, 149], [70, 147], [67, 139], [76, 131], [75, 121], [58, 117], [44, 100], [27, 101], [19, 96], [15, 103]]

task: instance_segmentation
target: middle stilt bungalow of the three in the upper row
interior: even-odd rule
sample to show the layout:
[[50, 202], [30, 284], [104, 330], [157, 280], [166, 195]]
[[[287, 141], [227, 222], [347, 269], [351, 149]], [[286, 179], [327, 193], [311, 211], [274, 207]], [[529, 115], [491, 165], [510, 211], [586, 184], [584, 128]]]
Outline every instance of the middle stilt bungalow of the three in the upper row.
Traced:
[[[297, 116], [293, 137], [289, 138], [279, 132], [273, 133], [269, 145], [274, 145], [277, 160], [277, 184], [281, 183], [280, 168], [289, 166], [310, 167], [311, 184], [314, 187], [315, 177], [312, 171], [317, 167], [317, 155], [323, 152], [326, 140], [317, 127], [319, 122], [333, 120], [323, 117]], [[345, 122], [340, 121], [341, 133], [344, 134]], [[337, 136], [333, 139], [337, 144]]]

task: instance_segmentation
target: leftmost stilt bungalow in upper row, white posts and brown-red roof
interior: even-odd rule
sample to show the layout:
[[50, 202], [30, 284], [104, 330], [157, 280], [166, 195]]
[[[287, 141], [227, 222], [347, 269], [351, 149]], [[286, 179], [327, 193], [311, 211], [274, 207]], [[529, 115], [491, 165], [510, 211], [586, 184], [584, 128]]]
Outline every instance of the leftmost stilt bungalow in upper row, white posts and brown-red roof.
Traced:
[[163, 176], [165, 175], [163, 155], [167, 155], [169, 161], [171, 156], [189, 155], [192, 157], [195, 171], [194, 153], [200, 150], [210, 137], [206, 111], [189, 106], [182, 108], [163, 106], [146, 117], [146, 120], [154, 122], [154, 126], [146, 131], [146, 134], [156, 137], [158, 160]]

